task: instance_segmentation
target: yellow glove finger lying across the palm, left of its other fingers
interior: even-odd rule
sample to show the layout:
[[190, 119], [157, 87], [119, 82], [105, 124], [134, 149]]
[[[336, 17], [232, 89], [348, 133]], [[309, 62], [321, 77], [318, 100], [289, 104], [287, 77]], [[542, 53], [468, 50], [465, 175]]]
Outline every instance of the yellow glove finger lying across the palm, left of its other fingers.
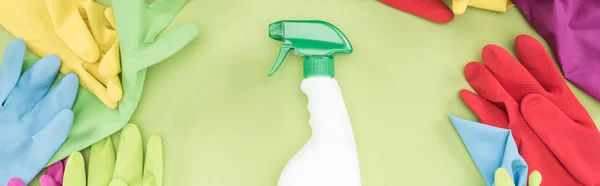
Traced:
[[[100, 50], [79, 12], [80, 2], [81, 0], [46, 0], [46, 7], [58, 37], [79, 58], [93, 63], [100, 57]], [[87, 16], [87, 13], [84, 14]]]

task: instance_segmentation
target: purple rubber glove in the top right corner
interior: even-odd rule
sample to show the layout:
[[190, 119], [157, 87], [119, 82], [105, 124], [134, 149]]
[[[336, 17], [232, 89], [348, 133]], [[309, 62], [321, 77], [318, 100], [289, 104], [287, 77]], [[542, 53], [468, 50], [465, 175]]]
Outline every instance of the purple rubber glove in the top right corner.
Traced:
[[552, 47], [569, 81], [600, 100], [600, 1], [513, 0]]

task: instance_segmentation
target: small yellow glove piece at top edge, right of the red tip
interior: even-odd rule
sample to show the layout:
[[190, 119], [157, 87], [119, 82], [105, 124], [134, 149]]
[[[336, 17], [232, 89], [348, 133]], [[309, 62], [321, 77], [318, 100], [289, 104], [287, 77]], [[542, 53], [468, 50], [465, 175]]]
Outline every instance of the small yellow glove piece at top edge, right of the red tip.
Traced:
[[511, 0], [452, 0], [452, 11], [455, 14], [465, 13], [468, 6], [496, 12], [506, 12], [515, 5]]

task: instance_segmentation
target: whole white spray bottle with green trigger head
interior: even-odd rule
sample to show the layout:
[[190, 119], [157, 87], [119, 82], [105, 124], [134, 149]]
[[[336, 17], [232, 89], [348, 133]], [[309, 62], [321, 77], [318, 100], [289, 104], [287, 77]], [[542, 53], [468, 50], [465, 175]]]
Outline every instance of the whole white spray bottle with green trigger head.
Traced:
[[285, 166], [279, 186], [359, 186], [358, 154], [342, 93], [333, 79], [333, 57], [351, 53], [335, 26], [317, 20], [283, 20], [269, 25], [269, 37], [283, 41], [269, 76], [291, 49], [304, 56], [301, 89], [308, 98], [312, 137]]

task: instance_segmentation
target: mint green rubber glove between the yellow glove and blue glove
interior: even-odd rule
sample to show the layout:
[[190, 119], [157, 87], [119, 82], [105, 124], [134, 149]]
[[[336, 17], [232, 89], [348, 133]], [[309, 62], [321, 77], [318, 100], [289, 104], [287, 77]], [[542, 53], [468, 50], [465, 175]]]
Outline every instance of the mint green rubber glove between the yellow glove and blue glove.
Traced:
[[[113, 0], [114, 15], [121, 50], [123, 99], [117, 109], [110, 109], [86, 90], [80, 90], [73, 106], [75, 120], [69, 138], [50, 163], [119, 131], [135, 111], [144, 88], [146, 69], [191, 42], [198, 34], [193, 25], [173, 27], [161, 33], [187, 0]], [[158, 37], [158, 35], [161, 37]], [[159, 106], [159, 105], [157, 105]]]

